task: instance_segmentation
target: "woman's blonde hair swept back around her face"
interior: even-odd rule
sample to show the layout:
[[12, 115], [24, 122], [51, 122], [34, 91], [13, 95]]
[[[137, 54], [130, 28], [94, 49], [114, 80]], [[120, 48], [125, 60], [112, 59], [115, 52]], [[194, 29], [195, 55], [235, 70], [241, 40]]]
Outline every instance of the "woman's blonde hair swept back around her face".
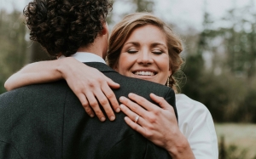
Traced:
[[166, 35], [166, 43], [169, 52], [170, 69], [172, 75], [169, 77], [170, 87], [177, 92], [177, 82], [173, 74], [180, 70], [183, 60], [180, 53], [183, 50], [181, 39], [177, 37], [172, 29], [165, 22], [149, 13], [135, 13], [126, 15], [116, 26], [109, 38], [107, 61], [110, 67], [114, 67], [121, 53], [121, 49], [125, 44], [126, 39], [131, 35], [131, 32], [140, 26], [154, 25], [160, 28]]

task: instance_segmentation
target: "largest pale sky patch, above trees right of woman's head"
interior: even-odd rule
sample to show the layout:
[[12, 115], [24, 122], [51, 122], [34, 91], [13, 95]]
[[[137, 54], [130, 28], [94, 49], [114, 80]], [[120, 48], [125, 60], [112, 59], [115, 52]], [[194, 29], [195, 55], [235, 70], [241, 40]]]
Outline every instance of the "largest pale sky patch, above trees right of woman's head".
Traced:
[[204, 6], [213, 18], [218, 19], [227, 10], [234, 7], [241, 8], [250, 1], [252, 0], [160, 0], [157, 1], [157, 10], [159, 10], [157, 14], [166, 20], [201, 24]]

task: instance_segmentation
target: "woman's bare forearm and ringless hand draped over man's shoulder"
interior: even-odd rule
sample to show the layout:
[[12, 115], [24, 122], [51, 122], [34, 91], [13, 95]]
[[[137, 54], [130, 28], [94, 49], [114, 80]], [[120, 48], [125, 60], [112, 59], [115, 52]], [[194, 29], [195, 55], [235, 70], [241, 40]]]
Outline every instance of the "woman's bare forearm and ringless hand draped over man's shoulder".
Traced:
[[12, 90], [29, 84], [54, 82], [62, 78], [67, 81], [68, 86], [77, 95], [88, 115], [95, 116], [96, 114], [102, 122], [105, 121], [98, 100], [108, 118], [111, 121], [114, 120], [115, 116], [111, 105], [115, 111], [119, 112], [119, 103], [111, 88], [119, 88], [119, 84], [105, 77], [102, 72], [84, 65], [74, 58], [41, 61], [26, 65], [9, 77], [4, 83], [4, 87], [7, 90]]

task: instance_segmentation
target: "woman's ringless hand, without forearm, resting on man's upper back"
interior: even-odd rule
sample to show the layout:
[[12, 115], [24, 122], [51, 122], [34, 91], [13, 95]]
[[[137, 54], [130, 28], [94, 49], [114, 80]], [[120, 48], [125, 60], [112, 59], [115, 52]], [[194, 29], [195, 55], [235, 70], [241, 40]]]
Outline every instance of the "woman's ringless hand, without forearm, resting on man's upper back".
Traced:
[[[61, 59], [62, 60], [62, 59]], [[95, 68], [84, 65], [73, 58], [65, 58], [64, 65], [58, 67], [68, 86], [79, 98], [84, 110], [91, 117], [96, 116], [103, 122], [106, 120], [98, 102], [102, 105], [110, 121], [115, 119], [113, 110], [119, 112], [119, 103], [111, 88], [119, 88], [119, 84], [102, 74]], [[68, 64], [68, 65], [67, 65]], [[112, 107], [113, 110], [112, 110]]]

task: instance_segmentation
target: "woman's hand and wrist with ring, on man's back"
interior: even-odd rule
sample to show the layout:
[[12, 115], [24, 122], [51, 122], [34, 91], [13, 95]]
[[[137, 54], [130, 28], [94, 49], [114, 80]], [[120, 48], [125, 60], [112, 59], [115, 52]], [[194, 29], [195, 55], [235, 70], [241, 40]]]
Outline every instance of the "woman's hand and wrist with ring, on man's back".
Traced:
[[[195, 158], [188, 140], [178, 128], [172, 106], [165, 99], [150, 94], [150, 98], [160, 105], [160, 108], [137, 94], [129, 94], [129, 98], [121, 97], [119, 100], [123, 103], [121, 111], [128, 116], [125, 117], [125, 122], [131, 128], [155, 145], [168, 150], [173, 159]], [[136, 123], [134, 121], [137, 115], [140, 117]]]

